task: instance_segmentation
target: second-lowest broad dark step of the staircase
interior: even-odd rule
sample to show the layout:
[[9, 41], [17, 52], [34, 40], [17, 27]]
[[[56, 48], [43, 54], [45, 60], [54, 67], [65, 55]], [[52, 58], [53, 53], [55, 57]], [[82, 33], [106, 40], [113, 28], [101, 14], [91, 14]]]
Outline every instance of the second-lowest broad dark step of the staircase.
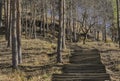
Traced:
[[106, 73], [105, 66], [102, 64], [65, 64], [62, 71], [64, 73]]

